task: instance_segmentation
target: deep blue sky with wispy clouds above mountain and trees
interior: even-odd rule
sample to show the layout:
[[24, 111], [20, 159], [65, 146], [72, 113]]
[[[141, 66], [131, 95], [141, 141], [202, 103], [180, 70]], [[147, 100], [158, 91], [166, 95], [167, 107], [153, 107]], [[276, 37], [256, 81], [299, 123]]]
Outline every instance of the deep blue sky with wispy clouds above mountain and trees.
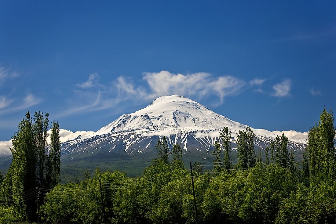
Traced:
[[335, 1], [1, 1], [0, 141], [27, 109], [96, 131], [172, 94], [254, 128], [308, 131], [336, 109], [335, 11]]

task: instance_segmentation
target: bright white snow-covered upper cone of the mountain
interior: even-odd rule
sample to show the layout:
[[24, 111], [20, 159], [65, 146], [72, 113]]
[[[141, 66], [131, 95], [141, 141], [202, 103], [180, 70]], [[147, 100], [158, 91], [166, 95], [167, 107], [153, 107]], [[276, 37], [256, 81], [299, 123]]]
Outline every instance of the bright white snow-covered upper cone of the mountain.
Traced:
[[[232, 121], [217, 114], [202, 104], [179, 95], [161, 96], [145, 108], [131, 114], [124, 114], [109, 125], [99, 129], [94, 135], [119, 135], [121, 133], [142, 133], [145, 136], [174, 135], [176, 133], [215, 133], [228, 127], [236, 135], [247, 125]], [[256, 135], [274, 138], [278, 132], [253, 129]], [[287, 132], [286, 132], [287, 133]], [[288, 133], [287, 133], [288, 134]], [[305, 133], [293, 133], [294, 141], [302, 142]]]

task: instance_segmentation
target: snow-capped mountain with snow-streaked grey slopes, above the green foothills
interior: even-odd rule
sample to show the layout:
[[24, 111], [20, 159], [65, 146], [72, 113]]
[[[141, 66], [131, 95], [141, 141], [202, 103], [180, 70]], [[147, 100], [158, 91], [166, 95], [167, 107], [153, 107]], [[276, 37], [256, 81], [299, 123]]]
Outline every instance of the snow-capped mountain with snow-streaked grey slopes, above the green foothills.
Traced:
[[[228, 127], [232, 132], [232, 147], [235, 137], [246, 125], [232, 121], [209, 108], [183, 96], [162, 96], [147, 107], [132, 114], [124, 114], [90, 136], [84, 136], [62, 144], [64, 160], [90, 158], [95, 155], [129, 156], [153, 155], [158, 139], [165, 135], [169, 145], [181, 143], [184, 156], [211, 154], [214, 142], [219, 141], [219, 132]], [[255, 147], [265, 149], [270, 140], [284, 133], [289, 137], [289, 147], [300, 152], [305, 147], [307, 133], [296, 131], [268, 131], [253, 129]]]

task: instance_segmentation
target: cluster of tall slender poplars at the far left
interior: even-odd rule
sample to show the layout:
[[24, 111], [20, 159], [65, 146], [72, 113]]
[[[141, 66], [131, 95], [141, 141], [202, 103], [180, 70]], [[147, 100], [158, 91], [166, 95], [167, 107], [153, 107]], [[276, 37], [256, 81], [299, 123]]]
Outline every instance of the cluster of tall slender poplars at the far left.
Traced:
[[[50, 143], [47, 142], [49, 114], [27, 111], [12, 137], [12, 163], [0, 182], [1, 217], [4, 223], [14, 220], [36, 221], [38, 203], [36, 189], [52, 189], [60, 182], [59, 124], [51, 125]], [[48, 149], [48, 150], [47, 150]], [[37, 201], [39, 200], [39, 201]]]

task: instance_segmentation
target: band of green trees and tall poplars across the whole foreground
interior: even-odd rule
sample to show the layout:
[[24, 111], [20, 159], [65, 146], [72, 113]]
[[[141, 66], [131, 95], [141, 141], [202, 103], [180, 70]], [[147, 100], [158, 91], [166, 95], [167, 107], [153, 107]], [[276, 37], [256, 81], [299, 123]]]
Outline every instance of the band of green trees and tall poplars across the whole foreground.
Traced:
[[264, 152], [255, 150], [247, 128], [237, 135], [233, 161], [225, 127], [211, 163], [186, 168], [180, 144], [170, 150], [162, 136], [142, 176], [97, 168], [94, 177], [87, 172], [84, 181], [67, 184], [57, 184], [59, 125], [53, 123], [47, 153], [47, 120], [27, 114], [13, 136], [13, 162], [0, 183], [0, 223], [336, 223], [331, 109], [309, 130], [300, 158], [288, 150], [285, 135]]

